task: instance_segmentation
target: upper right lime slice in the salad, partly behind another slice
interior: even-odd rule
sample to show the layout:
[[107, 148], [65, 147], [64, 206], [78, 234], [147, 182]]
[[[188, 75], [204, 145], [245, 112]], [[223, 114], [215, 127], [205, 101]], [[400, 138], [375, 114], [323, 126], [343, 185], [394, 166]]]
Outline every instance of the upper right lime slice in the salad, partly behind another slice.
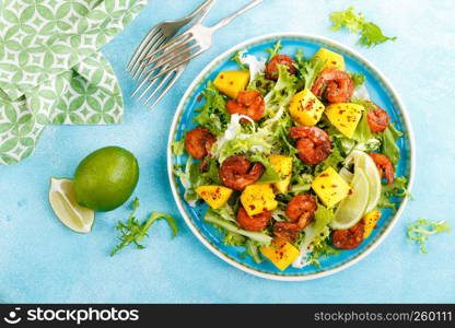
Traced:
[[347, 159], [347, 165], [354, 163], [354, 173], [357, 168], [363, 169], [366, 174], [370, 185], [370, 198], [369, 204], [366, 206], [365, 212], [370, 212], [374, 210], [380, 201], [381, 197], [381, 175], [377, 171], [376, 164], [374, 163], [373, 159], [362, 151], [353, 151]]

